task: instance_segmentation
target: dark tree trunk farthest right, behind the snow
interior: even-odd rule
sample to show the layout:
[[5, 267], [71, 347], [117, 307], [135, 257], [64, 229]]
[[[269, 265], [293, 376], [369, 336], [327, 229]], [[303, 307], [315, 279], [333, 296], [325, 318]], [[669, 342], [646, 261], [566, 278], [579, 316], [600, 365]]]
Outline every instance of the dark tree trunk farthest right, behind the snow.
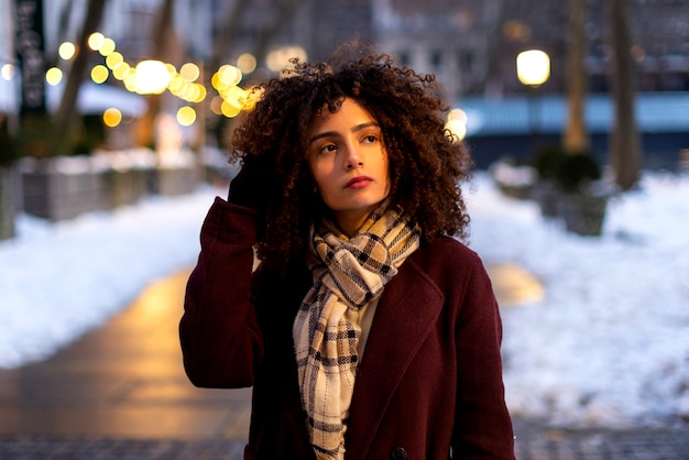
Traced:
[[641, 176], [642, 146], [636, 124], [635, 65], [627, 20], [626, 0], [608, 0], [612, 68], [610, 86], [614, 100], [614, 127], [610, 135], [610, 163], [615, 182], [623, 189], [632, 188]]

